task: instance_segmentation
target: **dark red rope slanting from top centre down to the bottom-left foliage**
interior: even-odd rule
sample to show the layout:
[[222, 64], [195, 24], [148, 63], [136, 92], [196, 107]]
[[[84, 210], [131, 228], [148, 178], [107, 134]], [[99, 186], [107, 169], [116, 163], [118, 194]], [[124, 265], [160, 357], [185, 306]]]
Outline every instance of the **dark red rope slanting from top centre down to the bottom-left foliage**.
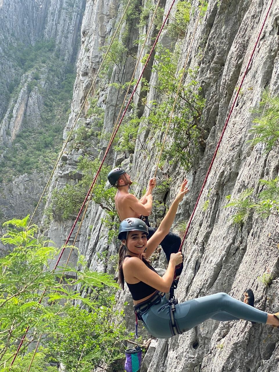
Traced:
[[[157, 38], [155, 39], [155, 42], [154, 42], [154, 44], [153, 44], [153, 47], [151, 48], [151, 51], [150, 51], [150, 53], [149, 53], [149, 55], [148, 55], [148, 58], [147, 58], [147, 61], [145, 62], [144, 67], [142, 68], [142, 71], [141, 71], [140, 77], [138, 78], [137, 84], [136, 84], [135, 87], [134, 87], [134, 90], [133, 90], [133, 92], [132, 92], [132, 94], [131, 94], [131, 97], [130, 97], [130, 99], [129, 99], [127, 105], [126, 105], [126, 108], [125, 108], [125, 110], [124, 110], [124, 112], [123, 112], [123, 114], [122, 114], [122, 116], [121, 116], [121, 119], [120, 119], [120, 121], [119, 121], [119, 123], [118, 123], [118, 126], [116, 127], [115, 132], [114, 132], [112, 138], [111, 138], [110, 141], [109, 141], [109, 144], [108, 144], [108, 147], [107, 147], [107, 149], [106, 149], [105, 155], [103, 156], [103, 160], [102, 160], [101, 163], [100, 163], [100, 166], [99, 166], [99, 169], [97, 170], [96, 176], [94, 177], [94, 180], [93, 180], [93, 182], [92, 182], [92, 184], [91, 184], [91, 186], [90, 186], [90, 189], [89, 189], [88, 192], [87, 192], [87, 195], [86, 195], [86, 197], [85, 197], [85, 199], [84, 199], [84, 202], [83, 202], [83, 204], [82, 204], [82, 206], [81, 206], [81, 208], [80, 208], [80, 211], [78, 212], [77, 218], [76, 218], [76, 220], [74, 221], [73, 227], [71, 228], [70, 234], [68, 235], [67, 240], [65, 241], [64, 247], [62, 248], [61, 253], [60, 253], [60, 255], [58, 256], [57, 262], [56, 262], [56, 264], [55, 264], [53, 270], [55, 270], [55, 269], [57, 268], [58, 263], [59, 263], [60, 260], [61, 260], [62, 254], [64, 253], [64, 250], [65, 250], [65, 248], [66, 248], [66, 246], [67, 246], [67, 244], [68, 244], [68, 242], [69, 242], [69, 240], [70, 240], [70, 237], [71, 237], [71, 235], [73, 234], [74, 228], [76, 227], [77, 221], [78, 221], [78, 219], [80, 218], [81, 212], [82, 212], [82, 210], [83, 210], [83, 208], [84, 208], [84, 205], [86, 204], [87, 198], [89, 197], [90, 192], [91, 192], [91, 190], [92, 190], [94, 184], [96, 183], [97, 177], [99, 176], [99, 173], [100, 173], [100, 171], [101, 171], [101, 169], [102, 169], [102, 166], [103, 166], [103, 163], [104, 163], [104, 161], [105, 161], [105, 158], [106, 158], [106, 156], [108, 155], [108, 152], [109, 152], [110, 147], [111, 147], [111, 145], [112, 145], [112, 142], [113, 142], [113, 140], [114, 140], [114, 138], [115, 138], [115, 136], [116, 136], [116, 134], [117, 134], [117, 131], [118, 131], [118, 129], [119, 129], [119, 126], [121, 125], [122, 120], [123, 120], [123, 118], [124, 118], [124, 116], [125, 116], [125, 114], [126, 114], [126, 111], [128, 110], [128, 107], [129, 107], [129, 105], [130, 105], [130, 103], [131, 103], [131, 100], [132, 100], [132, 98], [133, 98], [133, 96], [134, 96], [134, 94], [135, 94], [135, 91], [137, 90], [138, 84], [140, 83], [140, 80], [141, 80], [141, 78], [142, 78], [142, 75], [143, 75], [143, 73], [144, 73], [144, 70], [145, 70], [145, 68], [146, 68], [146, 66], [147, 66], [147, 64], [148, 64], [148, 61], [150, 60], [151, 54], [152, 54], [152, 52], [154, 51], [154, 48], [155, 48], [155, 46], [156, 46], [156, 44], [157, 44], [157, 42], [158, 42], [158, 39], [159, 39], [159, 37], [160, 37], [160, 35], [161, 35], [161, 32], [162, 32], [162, 30], [163, 30], [163, 28], [164, 28], [165, 23], [167, 22], [167, 18], [169, 17], [170, 11], [171, 11], [171, 9], [172, 9], [173, 4], [174, 4], [175, 1], [176, 1], [176, 0], [173, 0], [173, 2], [171, 3], [170, 9], [169, 9], [169, 11], [167, 12], [166, 18], [164, 19], [164, 22], [163, 22], [163, 24], [162, 24], [162, 26], [161, 26], [161, 28], [160, 28], [160, 31], [158, 32]], [[42, 294], [42, 296], [41, 296], [41, 299], [40, 299], [39, 302], [38, 302], [39, 304], [41, 304], [45, 292], [46, 292], [46, 289], [44, 290], [44, 292], [43, 292], [43, 294]], [[11, 364], [10, 364], [10, 367], [11, 367], [11, 366], [13, 365], [13, 363], [15, 362], [16, 356], [17, 356], [17, 354], [19, 353], [19, 350], [20, 350], [20, 348], [21, 348], [21, 346], [22, 346], [22, 344], [23, 344], [23, 341], [24, 341], [24, 339], [25, 339], [25, 337], [26, 337], [28, 331], [29, 331], [29, 326], [26, 328], [25, 334], [23, 335], [22, 339], [20, 340], [19, 346], [17, 347], [16, 353], [15, 353], [15, 355], [14, 355], [14, 357], [13, 357], [13, 360], [12, 360], [12, 362], [11, 362]]]

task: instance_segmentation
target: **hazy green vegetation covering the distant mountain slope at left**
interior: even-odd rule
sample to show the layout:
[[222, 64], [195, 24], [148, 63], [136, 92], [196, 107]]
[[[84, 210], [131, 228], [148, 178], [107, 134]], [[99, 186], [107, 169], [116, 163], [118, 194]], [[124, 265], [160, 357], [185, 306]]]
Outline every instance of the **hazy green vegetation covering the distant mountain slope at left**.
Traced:
[[[62, 132], [67, 121], [67, 110], [73, 92], [75, 74], [65, 71], [64, 62], [55, 51], [53, 40], [36, 42], [34, 46], [18, 45], [13, 49], [21, 74], [32, 69], [29, 90], [36, 87], [43, 97], [40, 128], [34, 128], [23, 119], [22, 130], [0, 161], [0, 176], [4, 181], [23, 173], [49, 172], [61, 149]], [[42, 89], [40, 74], [51, 82], [51, 88]], [[16, 99], [22, 86], [15, 86], [11, 97]], [[12, 113], [12, 112], [11, 112]]]

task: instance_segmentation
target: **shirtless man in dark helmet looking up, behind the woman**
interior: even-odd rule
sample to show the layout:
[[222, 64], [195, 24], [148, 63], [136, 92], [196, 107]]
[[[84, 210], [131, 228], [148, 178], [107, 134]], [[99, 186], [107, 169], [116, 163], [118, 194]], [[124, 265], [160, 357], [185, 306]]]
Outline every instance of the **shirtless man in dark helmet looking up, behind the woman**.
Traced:
[[[117, 188], [115, 195], [116, 211], [121, 221], [125, 218], [135, 217], [140, 218], [147, 224], [148, 237], [151, 238], [157, 228], [151, 227], [148, 222], [148, 216], [151, 213], [153, 196], [151, 192], [156, 186], [156, 179], [151, 178], [148, 182], [147, 192], [138, 200], [134, 195], [129, 193], [129, 186], [132, 185], [131, 177], [122, 168], [115, 168], [108, 174], [110, 185]], [[169, 232], [167, 236], [161, 241], [161, 247], [166, 254], [169, 262], [171, 253], [177, 253], [181, 244], [181, 239], [178, 235]], [[176, 279], [179, 278], [183, 269], [183, 263], [179, 269], [176, 270]]]

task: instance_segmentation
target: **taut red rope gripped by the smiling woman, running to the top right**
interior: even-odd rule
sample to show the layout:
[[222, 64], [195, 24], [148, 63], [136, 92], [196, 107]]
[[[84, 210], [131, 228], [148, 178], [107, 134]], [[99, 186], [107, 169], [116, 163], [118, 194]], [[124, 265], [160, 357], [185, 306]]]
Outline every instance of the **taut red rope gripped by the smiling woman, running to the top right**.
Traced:
[[[240, 86], [238, 87], [238, 90], [237, 90], [237, 93], [236, 93], [236, 96], [235, 96], [234, 102], [232, 103], [232, 106], [231, 106], [231, 109], [230, 109], [230, 113], [229, 113], [228, 118], [227, 118], [227, 120], [226, 120], [226, 122], [225, 122], [225, 125], [224, 125], [224, 128], [223, 128], [223, 131], [222, 131], [221, 137], [220, 137], [220, 139], [219, 139], [219, 142], [218, 142], [218, 144], [217, 144], [217, 147], [216, 147], [216, 149], [215, 149], [214, 155], [213, 155], [213, 157], [212, 157], [212, 160], [211, 160], [210, 166], [209, 166], [209, 168], [208, 168], [208, 171], [207, 171], [207, 173], [206, 173], [205, 179], [204, 179], [204, 181], [203, 181], [201, 191], [200, 191], [200, 193], [199, 193], [199, 196], [198, 196], [198, 199], [197, 199], [197, 201], [196, 201], [195, 207], [194, 207], [193, 212], [192, 212], [192, 214], [191, 214], [191, 217], [190, 217], [190, 219], [189, 219], [189, 222], [188, 222], [188, 225], [187, 225], [187, 228], [186, 228], [186, 231], [185, 231], [184, 237], [183, 237], [183, 239], [182, 239], [182, 242], [181, 242], [181, 245], [180, 245], [179, 251], [182, 250], [182, 246], [183, 246], [183, 243], [184, 243], [184, 241], [185, 241], [186, 235], [187, 235], [187, 233], [188, 233], [188, 231], [189, 231], [189, 227], [190, 227], [190, 224], [191, 224], [192, 219], [193, 219], [193, 217], [194, 217], [195, 211], [196, 211], [196, 209], [197, 209], [197, 206], [198, 206], [198, 203], [199, 203], [199, 199], [201, 199], [201, 195], [202, 195], [203, 189], [204, 189], [204, 187], [205, 187], [205, 184], [206, 184], [206, 181], [207, 181], [207, 179], [208, 179], [209, 173], [210, 173], [210, 171], [211, 171], [212, 165], [213, 165], [214, 160], [215, 160], [215, 158], [216, 158], [217, 151], [218, 151], [218, 149], [219, 149], [219, 147], [220, 147], [220, 144], [221, 144], [221, 141], [222, 141], [223, 135], [224, 135], [225, 130], [226, 130], [226, 128], [227, 128], [228, 121], [230, 120], [231, 113], [232, 113], [232, 110], [234, 109], [235, 102], [236, 102], [236, 100], [237, 100], [237, 98], [238, 98], [238, 95], [239, 95], [240, 89], [241, 89], [241, 87], [242, 87], [242, 84], [243, 84], [244, 78], [246, 77], [246, 74], [247, 74], [248, 68], [249, 68], [250, 63], [251, 63], [251, 61], [252, 61], [252, 59], [253, 59], [253, 56], [254, 56], [254, 53], [255, 53], [255, 50], [256, 50], [257, 44], [258, 44], [258, 42], [259, 42], [259, 39], [260, 39], [260, 36], [261, 36], [261, 34], [262, 34], [262, 31], [263, 31], [264, 25], [265, 25], [266, 20], [267, 20], [267, 16], [269, 15], [270, 9], [271, 9], [271, 7], [272, 7], [272, 3], [273, 3], [273, 0], [271, 1], [270, 6], [269, 6], [269, 9], [267, 10], [266, 17], [264, 18], [263, 25], [262, 25], [262, 28], [260, 29], [259, 35], [258, 35], [258, 37], [257, 37], [256, 44], [254, 45], [253, 51], [252, 51], [252, 53], [251, 53], [250, 59], [249, 59], [249, 61], [248, 61], [247, 67], [246, 67], [246, 70], [244, 71], [243, 77], [242, 77], [242, 79], [241, 79]], [[180, 264], [180, 265], [181, 265], [181, 264]], [[177, 266], [177, 267], [180, 267], [180, 265]]]

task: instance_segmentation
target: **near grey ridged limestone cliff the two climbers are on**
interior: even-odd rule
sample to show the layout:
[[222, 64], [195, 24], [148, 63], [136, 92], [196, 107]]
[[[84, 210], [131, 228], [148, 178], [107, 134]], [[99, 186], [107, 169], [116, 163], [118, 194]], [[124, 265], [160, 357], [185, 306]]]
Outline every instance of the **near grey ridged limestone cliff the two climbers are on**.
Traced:
[[[179, 68], [183, 66], [186, 58], [198, 14], [198, 3], [199, 1], [194, 0], [192, 4], [195, 11], [191, 13]], [[170, 4], [170, 0], [164, 4], [165, 13]], [[208, 1], [208, 8], [198, 25], [187, 66], [193, 68], [199, 65], [198, 81], [202, 87], [202, 96], [206, 98], [203, 109], [206, 145], [199, 152], [195, 167], [187, 174], [190, 193], [179, 207], [176, 222], [187, 220], [195, 205], [234, 99], [235, 88], [240, 84], [269, 4], [270, 1], [267, 0]], [[106, 38], [112, 35], [122, 11], [123, 7], [118, 1], [96, 0], [88, 1], [86, 4], [81, 26], [81, 50], [74, 85], [74, 100], [67, 131], [73, 125], [99, 67], [102, 58], [99, 48], [104, 45]], [[272, 94], [278, 94], [279, 90], [278, 14], [279, 3], [274, 1], [183, 247], [184, 271], [176, 291], [179, 301], [216, 292], [227, 292], [242, 300], [243, 291], [250, 287], [254, 290], [257, 308], [269, 312], [279, 310], [278, 217], [260, 219], [258, 215], [253, 214], [246, 224], [239, 227], [232, 225], [229, 220], [232, 210], [223, 208], [227, 204], [225, 198], [227, 195], [237, 198], [240, 192], [248, 187], [254, 187], [255, 192], [258, 192], [259, 179], [275, 178], [279, 173], [279, 157], [275, 151], [265, 154], [263, 146], [251, 148], [250, 144], [247, 144], [247, 140], [251, 138], [248, 131], [253, 119], [249, 109], [260, 102], [265, 87], [269, 87]], [[146, 32], [146, 29], [140, 30], [140, 33], [144, 31]], [[114, 66], [112, 82], [116, 82], [117, 78], [124, 82], [131, 77], [135, 65], [133, 57], [139, 53], [139, 50], [132, 47], [132, 41], [137, 38], [137, 33], [137, 28], [132, 27], [127, 41], [128, 53], [125, 63], [120, 69]], [[160, 39], [161, 44], [168, 45], [170, 40], [167, 31], [164, 31]], [[137, 75], [140, 69], [141, 67], [138, 68]], [[151, 88], [147, 102], [150, 102], [154, 99], [155, 91], [152, 86], [157, 81], [157, 75], [151, 73], [148, 81]], [[95, 92], [97, 105], [105, 109], [103, 130], [110, 132], [118, 115], [123, 93], [109, 86], [105, 79], [97, 81]], [[138, 99], [135, 99], [135, 105], [137, 104]], [[147, 114], [145, 108], [143, 115]], [[94, 119], [86, 118], [85, 113], [81, 116], [78, 127], [93, 125]], [[157, 138], [152, 137], [149, 129], [142, 123], [133, 154], [109, 154], [112, 167], [121, 164], [131, 171], [132, 178], [138, 182], [134, 186], [136, 194], [144, 189], [148, 178], [154, 174], [157, 155], [154, 144], [162, 136], [163, 134]], [[142, 144], [145, 145], [150, 157], [141, 151]], [[103, 153], [105, 146], [106, 141], [99, 143], [96, 138], [92, 140], [90, 151], [81, 147], [79, 150], [71, 150], [68, 145], [52, 180], [48, 206], [51, 203], [53, 189], [60, 189], [68, 182], [77, 183], [80, 179], [80, 174], [73, 175], [78, 157], [89, 153], [94, 158], [98, 150]], [[160, 190], [155, 190], [154, 198], [164, 199], [169, 204], [185, 174], [181, 169], [166, 163], [158, 172], [158, 183], [164, 179], [165, 174], [169, 174], [173, 180], [170, 191], [167, 195], [161, 195]], [[208, 206], [204, 208], [207, 200]], [[60, 215], [55, 214], [55, 211], [53, 213], [54, 219], [48, 235], [60, 246], [73, 221], [64, 221]], [[101, 223], [104, 216], [105, 212], [98, 205], [90, 205], [78, 237], [78, 244], [91, 269], [114, 273], [109, 257], [116, 254], [116, 245], [108, 244], [108, 231]], [[160, 213], [153, 211], [150, 220], [155, 225], [161, 217]], [[107, 262], [98, 257], [97, 253], [103, 251], [108, 251]], [[64, 260], [66, 259], [67, 256]], [[75, 260], [76, 258], [72, 257], [73, 263]], [[155, 263], [156, 266], [163, 268], [163, 261], [163, 257], [160, 257]], [[269, 272], [273, 277], [269, 287], [257, 280], [257, 277], [265, 272]], [[124, 301], [129, 302], [126, 317], [128, 327], [132, 330], [134, 318], [131, 296], [127, 290], [124, 293], [119, 292], [118, 296], [119, 307]], [[153, 341], [141, 372], [279, 372], [278, 338], [278, 330], [271, 327], [252, 325], [245, 321], [218, 323], [208, 320], [180, 336]]]

